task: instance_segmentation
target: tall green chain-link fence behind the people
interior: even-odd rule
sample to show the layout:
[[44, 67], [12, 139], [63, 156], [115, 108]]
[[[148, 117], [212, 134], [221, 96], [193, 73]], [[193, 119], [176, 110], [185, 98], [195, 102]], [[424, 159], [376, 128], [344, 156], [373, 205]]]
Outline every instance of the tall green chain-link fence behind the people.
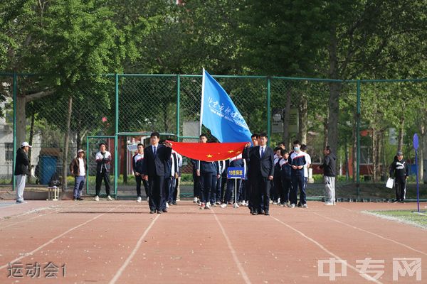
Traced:
[[[357, 81], [215, 78], [230, 94], [251, 131], [268, 133], [270, 146], [284, 142], [290, 148], [295, 139], [307, 144], [313, 163], [310, 182], [314, 183], [307, 187], [310, 196], [323, 195], [317, 165], [322, 163], [322, 150], [329, 143], [328, 121], [337, 121], [338, 192], [341, 190], [346, 198], [375, 197], [375, 193], [359, 192], [359, 182], [382, 182], [386, 178], [399, 137], [404, 139], [403, 150], [411, 163], [411, 136], [413, 132], [425, 133], [425, 129], [416, 129], [426, 125], [425, 80], [359, 81], [358, 104]], [[93, 194], [95, 153], [97, 145], [105, 142], [113, 155], [112, 188], [122, 196], [133, 196], [131, 159], [136, 143], [147, 145], [151, 131], [159, 131], [162, 139], [198, 140], [200, 75], [107, 75], [56, 88], [43, 87], [40, 82], [45, 80], [35, 75], [4, 74], [0, 81], [4, 97], [0, 120], [2, 184], [11, 183], [16, 148], [28, 141], [33, 146], [28, 184], [46, 185], [57, 173], [63, 184], [71, 187], [70, 160], [83, 148], [89, 162], [87, 190]], [[331, 89], [339, 92], [339, 111], [334, 114], [329, 114]], [[413, 106], [411, 102], [417, 103]], [[394, 112], [385, 111], [394, 108]], [[202, 132], [214, 141], [208, 129]], [[184, 159], [182, 173], [189, 175], [183, 180], [191, 187], [189, 160]]]

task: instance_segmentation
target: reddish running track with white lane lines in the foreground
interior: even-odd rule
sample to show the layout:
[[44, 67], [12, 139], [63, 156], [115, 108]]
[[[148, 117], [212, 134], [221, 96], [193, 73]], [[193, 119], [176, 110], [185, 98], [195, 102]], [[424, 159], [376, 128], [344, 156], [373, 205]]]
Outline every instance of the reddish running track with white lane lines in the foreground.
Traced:
[[[163, 214], [147, 202], [9, 203], [0, 202], [0, 283], [330, 283], [318, 262], [330, 258], [345, 261], [339, 283], [422, 283], [416, 273], [393, 281], [394, 258], [421, 259], [427, 277], [426, 230], [363, 212], [415, 204], [310, 202], [252, 216], [186, 201]], [[366, 258], [384, 262], [363, 271]], [[35, 263], [40, 277], [25, 275]], [[56, 278], [46, 278], [48, 263]], [[8, 277], [19, 264], [23, 277]]]

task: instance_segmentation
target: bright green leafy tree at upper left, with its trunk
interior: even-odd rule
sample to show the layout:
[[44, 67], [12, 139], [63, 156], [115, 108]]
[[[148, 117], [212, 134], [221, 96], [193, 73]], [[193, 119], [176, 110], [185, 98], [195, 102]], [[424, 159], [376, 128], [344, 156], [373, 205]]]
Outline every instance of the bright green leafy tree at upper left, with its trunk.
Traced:
[[[111, 20], [115, 12], [104, 1], [16, 1], [6, 9], [11, 11], [16, 6], [20, 6], [21, 13], [16, 14], [11, 31], [23, 35], [17, 37], [21, 42], [10, 47], [9, 52], [14, 54], [11, 62], [19, 70], [43, 74], [26, 78], [25, 89], [17, 96], [16, 138], [23, 141], [26, 136], [27, 102], [46, 96], [54, 96], [53, 102], [65, 98], [68, 101], [63, 128], [65, 181], [75, 94], [82, 82], [102, 83], [105, 78], [100, 75], [122, 69], [121, 62], [128, 55], [126, 31], [116, 28]], [[105, 102], [108, 101], [103, 99], [97, 103]]]

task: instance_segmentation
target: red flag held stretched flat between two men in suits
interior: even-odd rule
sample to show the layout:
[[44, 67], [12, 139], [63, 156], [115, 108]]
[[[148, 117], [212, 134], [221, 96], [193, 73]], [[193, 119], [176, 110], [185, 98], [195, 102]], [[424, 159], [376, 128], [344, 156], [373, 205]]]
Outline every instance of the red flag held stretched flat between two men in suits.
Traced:
[[206, 160], [214, 162], [216, 160], [227, 160], [236, 157], [243, 152], [246, 144], [249, 142], [238, 143], [188, 143], [174, 142], [172, 148], [177, 153], [194, 160]]

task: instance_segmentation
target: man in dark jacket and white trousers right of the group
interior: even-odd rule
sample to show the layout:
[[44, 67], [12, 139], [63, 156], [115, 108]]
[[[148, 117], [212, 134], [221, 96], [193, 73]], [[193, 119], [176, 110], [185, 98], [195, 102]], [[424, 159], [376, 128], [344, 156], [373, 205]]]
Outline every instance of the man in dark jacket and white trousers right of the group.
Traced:
[[337, 175], [337, 157], [332, 153], [330, 146], [323, 150], [325, 158], [319, 168], [323, 169], [327, 201], [325, 205], [335, 205], [335, 175]]

